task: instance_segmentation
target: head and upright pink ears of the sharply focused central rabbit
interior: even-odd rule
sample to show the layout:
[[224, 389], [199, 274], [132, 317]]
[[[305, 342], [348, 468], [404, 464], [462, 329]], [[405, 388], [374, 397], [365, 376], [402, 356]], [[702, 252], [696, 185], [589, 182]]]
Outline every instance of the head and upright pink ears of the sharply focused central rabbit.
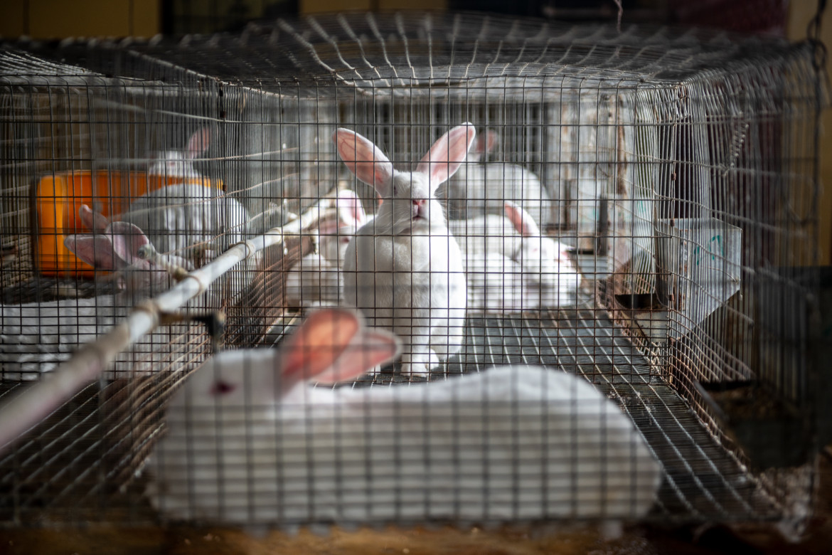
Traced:
[[375, 218], [377, 233], [407, 235], [445, 227], [435, 192], [465, 161], [475, 135], [471, 123], [453, 127], [433, 143], [413, 172], [394, 170], [379, 147], [355, 131], [339, 128], [333, 140], [349, 171], [373, 186], [383, 199]]

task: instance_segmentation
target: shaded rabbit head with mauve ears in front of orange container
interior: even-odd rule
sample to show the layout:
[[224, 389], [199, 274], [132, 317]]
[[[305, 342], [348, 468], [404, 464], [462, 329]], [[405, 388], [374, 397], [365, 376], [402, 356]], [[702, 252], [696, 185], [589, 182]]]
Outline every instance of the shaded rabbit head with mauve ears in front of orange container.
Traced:
[[[144, 232], [126, 221], [109, 221], [87, 205], [78, 211], [81, 221], [92, 234], [67, 235], [63, 242], [67, 249], [97, 270], [109, 270], [119, 275], [119, 283], [126, 289], [146, 290], [169, 283], [166, 268], [141, 256], [141, 247], [151, 245]], [[191, 265], [178, 256], [169, 256], [171, 265], [191, 269]]]

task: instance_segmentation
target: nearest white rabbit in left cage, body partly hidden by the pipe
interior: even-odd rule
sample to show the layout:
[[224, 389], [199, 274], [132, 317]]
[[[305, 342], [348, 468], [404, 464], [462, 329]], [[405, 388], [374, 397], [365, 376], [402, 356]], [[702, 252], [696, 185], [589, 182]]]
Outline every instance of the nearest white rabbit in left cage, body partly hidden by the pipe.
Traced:
[[[0, 305], [0, 377], [37, 379], [38, 374], [54, 369], [82, 344], [106, 334], [129, 310], [154, 288], [170, 285], [166, 268], [139, 255], [148, 240], [136, 225], [122, 221], [110, 223], [87, 206], [80, 211], [84, 225], [94, 234], [67, 235], [67, 248], [99, 270], [117, 272], [125, 287], [116, 295], [91, 299], [63, 299], [24, 305]], [[186, 260], [170, 256], [167, 264], [190, 270]], [[160, 342], [167, 342], [166, 331], [151, 334], [119, 354], [111, 372], [130, 372], [141, 356], [156, 356]], [[145, 361], [146, 364], [149, 364]]]

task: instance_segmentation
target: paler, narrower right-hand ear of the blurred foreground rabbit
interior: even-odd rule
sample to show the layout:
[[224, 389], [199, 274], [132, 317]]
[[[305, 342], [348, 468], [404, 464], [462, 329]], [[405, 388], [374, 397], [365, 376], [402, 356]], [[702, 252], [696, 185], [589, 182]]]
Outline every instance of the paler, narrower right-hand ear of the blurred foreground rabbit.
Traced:
[[319, 384], [337, 384], [358, 378], [369, 369], [399, 354], [399, 339], [384, 330], [360, 330], [352, 343], [324, 372], [315, 376]]

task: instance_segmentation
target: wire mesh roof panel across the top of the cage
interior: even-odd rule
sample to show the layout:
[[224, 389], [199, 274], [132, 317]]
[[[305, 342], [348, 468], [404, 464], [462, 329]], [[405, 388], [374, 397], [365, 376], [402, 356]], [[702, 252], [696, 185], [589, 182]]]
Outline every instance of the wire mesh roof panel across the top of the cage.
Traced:
[[[310, 85], [325, 76], [373, 89], [480, 77], [522, 77], [532, 85], [547, 77], [569, 79], [572, 86], [607, 80], [635, 85], [643, 78], [681, 82], [715, 67], [770, 61], [770, 54], [781, 56], [790, 48], [785, 41], [735, 42], [723, 33], [696, 29], [632, 25], [619, 33], [609, 26], [418, 12], [256, 22], [240, 35], [189, 35], [179, 45], [111, 46], [132, 51], [126, 57], [111, 54], [126, 63], [117, 66], [121, 74], [158, 79], [181, 67], [270, 91], [282, 90], [287, 80]], [[95, 54], [78, 50], [87, 67], [102, 63], [115, 69], [109, 56], [96, 60]]]

